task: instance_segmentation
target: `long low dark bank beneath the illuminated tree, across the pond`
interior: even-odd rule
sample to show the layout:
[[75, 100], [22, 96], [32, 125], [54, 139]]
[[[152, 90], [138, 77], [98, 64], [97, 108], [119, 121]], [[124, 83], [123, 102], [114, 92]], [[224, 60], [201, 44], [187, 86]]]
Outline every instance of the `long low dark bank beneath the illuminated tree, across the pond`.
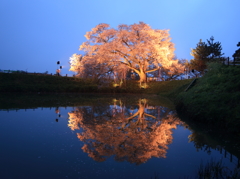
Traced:
[[138, 93], [163, 94], [175, 90], [189, 80], [149, 82], [148, 88], [139, 88], [137, 81], [127, 80], [122, 87], [113, 87], [112, 83], [101, 85], [96, 81], [76, 77], [51, 75], [0, 73], [0, 92], [17, 93]]

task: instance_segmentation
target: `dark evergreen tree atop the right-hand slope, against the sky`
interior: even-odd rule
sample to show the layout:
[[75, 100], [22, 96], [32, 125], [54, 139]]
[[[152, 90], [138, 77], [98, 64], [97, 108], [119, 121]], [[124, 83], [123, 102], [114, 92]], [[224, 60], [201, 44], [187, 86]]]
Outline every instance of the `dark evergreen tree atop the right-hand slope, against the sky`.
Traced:
[[191, 50], [191, 55], [194, 57], [190, 61], [190, 66], [197, 71], [204, 71], [207, 68], [208, 62], [221, 61], [222, 57], [222, 46], [220, 42], [214, 42], [212, 36], [207, 43], [202, 42], [200, 39], [197, 47]]

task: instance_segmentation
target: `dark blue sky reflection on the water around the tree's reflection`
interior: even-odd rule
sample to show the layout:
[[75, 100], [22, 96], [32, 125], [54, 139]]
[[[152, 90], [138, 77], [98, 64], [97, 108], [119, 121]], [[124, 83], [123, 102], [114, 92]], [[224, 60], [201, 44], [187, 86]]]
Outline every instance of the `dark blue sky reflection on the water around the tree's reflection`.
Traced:
[[[68, 127], [68, 112], [60, 107], [0, 111], [1, 178], [178, 178], [195, 174], [201, 161], [211, 158], [234, 166], [219, 151], [197, 152], [188, 142], [190, 131], [178, 126], [167, 158], [151, 158], [141, 165], [116, 162], [114, 157], [96, 162], [82, 152], [83, 143]], [[58, 122], [56, 122], [58, 118]]]

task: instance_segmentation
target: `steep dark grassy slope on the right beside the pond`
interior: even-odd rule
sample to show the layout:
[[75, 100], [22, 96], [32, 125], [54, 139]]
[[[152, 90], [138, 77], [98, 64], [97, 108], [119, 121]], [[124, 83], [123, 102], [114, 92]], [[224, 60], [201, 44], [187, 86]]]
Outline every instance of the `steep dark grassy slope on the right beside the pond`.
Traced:
[[178, 95], [176, 108], [205, 130], [240, 137], [240, 68], [211, 64], [204, 77]]

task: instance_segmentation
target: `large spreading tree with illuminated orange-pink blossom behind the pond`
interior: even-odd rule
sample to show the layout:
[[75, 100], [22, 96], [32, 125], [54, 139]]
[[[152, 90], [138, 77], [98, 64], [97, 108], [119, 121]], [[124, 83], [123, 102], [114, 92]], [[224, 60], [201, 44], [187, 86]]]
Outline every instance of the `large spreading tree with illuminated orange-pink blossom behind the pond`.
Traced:
[[99, 24], [85, 37], [87, 41], [79, 48], [85, 55], [70, 60], [70, 70], [79, 74], [82, 73], [81, 68], [86, 69], [86, 64], [106, 67], [103, 70], [105, 74], [109, 74], [109, 70], [118, 72], [121, 64], [137, 73], [140, 82], [146, 82], [147, 73], [160, 67], [171, 70], [172, 64], [177, 61], [174, 60], [175, 49], [168, 30], [155, 30], [144, 22], [119, 25], [117, 29]]

